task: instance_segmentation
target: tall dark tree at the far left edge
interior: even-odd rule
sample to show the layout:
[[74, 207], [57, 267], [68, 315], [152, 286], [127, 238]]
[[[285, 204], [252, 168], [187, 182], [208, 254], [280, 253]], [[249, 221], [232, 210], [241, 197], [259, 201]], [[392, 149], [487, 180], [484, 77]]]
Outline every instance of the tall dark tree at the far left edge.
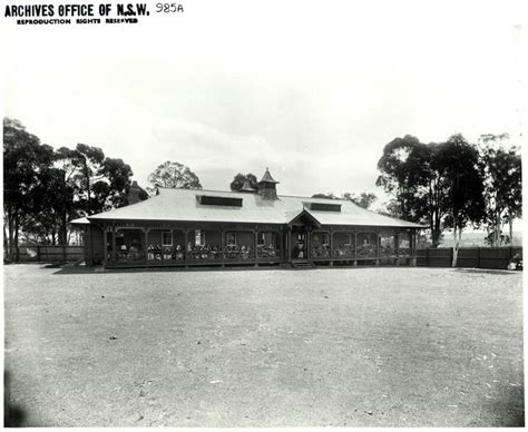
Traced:
[[20, 256], [21, 228], [31, 215], [43, 209], [38, 194], [39, 175], [49, 167], [52, 155], [52, 148], [41, 145], [19, 120], [3, 118], [4, 246], [11, 259], [18, 261]]

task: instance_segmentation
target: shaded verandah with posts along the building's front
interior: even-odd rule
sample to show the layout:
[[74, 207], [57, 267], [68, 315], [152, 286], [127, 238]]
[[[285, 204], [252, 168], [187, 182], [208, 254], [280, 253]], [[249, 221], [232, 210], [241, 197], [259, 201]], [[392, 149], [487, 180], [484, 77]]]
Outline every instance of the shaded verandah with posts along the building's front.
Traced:
[[[131, 224], [127, 224], [131, 225]], [[415, 234], [383, 228], [156, 227], [105, 225], [108, 266], [372, 261], [413, 264]]]

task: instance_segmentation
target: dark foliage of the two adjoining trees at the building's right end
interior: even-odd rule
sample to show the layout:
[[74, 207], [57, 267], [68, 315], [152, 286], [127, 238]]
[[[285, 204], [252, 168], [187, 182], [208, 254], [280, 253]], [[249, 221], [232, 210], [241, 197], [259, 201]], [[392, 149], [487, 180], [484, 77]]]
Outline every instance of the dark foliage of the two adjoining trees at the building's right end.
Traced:
[[422, 144], [410, 135], [389, 143], [378, 163], [377, 185], [392, 196], [387, 213], [427, 223], [432, 246], [446, 228], [460, 235], [481, 218], [482, 178], [475, 146], [461, 135], [447, 143]]

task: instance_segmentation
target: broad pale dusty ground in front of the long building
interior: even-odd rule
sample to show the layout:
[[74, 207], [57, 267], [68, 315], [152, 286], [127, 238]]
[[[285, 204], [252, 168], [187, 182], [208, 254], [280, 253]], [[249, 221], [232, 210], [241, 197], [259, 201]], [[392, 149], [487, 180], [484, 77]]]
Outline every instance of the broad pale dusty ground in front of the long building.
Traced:
[[4, 267], [22, 425], [524, 424], [520, 273]]

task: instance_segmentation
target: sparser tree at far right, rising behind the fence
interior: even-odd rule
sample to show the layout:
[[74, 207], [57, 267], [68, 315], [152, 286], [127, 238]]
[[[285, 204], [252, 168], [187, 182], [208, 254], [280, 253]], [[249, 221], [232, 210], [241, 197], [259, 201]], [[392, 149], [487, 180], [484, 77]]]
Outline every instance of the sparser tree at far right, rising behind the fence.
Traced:
[[[487, 240], [500, 246], [514, 238], [514, 219], [522, 215], [521, 157], [508, 143], [509, 136], [481, 135], [479, 149], [485, 174]], [[502, 235], [502, 226], [509, 225], [509, 237]]]

